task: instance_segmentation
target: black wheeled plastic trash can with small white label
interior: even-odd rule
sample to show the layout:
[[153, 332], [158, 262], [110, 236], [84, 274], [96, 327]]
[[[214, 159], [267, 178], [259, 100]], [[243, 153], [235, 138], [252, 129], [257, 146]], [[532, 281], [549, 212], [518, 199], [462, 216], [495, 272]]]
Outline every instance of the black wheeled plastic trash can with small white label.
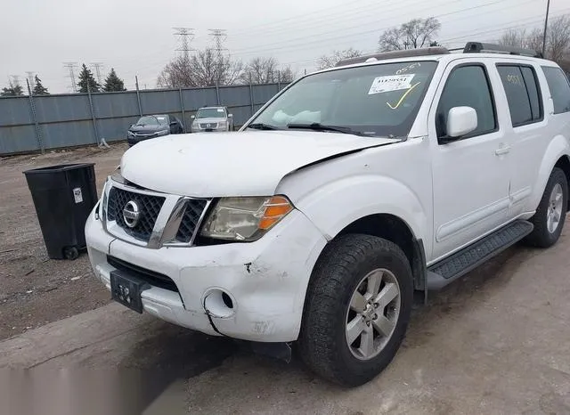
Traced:
[[85, 248], [85, 222], [98, 199], [94, 163], [34, 168], [24, 175], [47, 255], [76, 259]]

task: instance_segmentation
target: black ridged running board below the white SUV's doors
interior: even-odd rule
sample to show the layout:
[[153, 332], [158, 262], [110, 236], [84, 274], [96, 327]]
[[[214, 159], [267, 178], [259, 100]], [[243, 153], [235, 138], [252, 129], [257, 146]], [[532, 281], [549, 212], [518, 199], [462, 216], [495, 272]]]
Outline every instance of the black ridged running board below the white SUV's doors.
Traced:
[[447, 284], [513, 246], [530, 232], [533, 232], [533, 224], [517, 220], [429, 266], [428, 289], [443, 289]]

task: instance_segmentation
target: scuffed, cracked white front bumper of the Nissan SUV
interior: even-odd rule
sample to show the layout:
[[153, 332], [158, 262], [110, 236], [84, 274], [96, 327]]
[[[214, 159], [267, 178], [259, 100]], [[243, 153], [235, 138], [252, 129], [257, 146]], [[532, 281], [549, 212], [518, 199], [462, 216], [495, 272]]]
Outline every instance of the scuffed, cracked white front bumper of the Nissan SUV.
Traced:
[[[108, 255], [167, 275], [179, 292], [142, 291], [145, 312], [192, 330], [261, 342], [298, 337], [305, 292], [326, 240], [302, 213], [293, 211], [260, 240], [204, 247], [143, 248], [118, 240], [90, 216], [85, 224], [94, 273], [110, 289]], [[205, 308], [212, 290], [232, 298], [222, 315]], [[208, 305], [206, 305], [208, 307]]]

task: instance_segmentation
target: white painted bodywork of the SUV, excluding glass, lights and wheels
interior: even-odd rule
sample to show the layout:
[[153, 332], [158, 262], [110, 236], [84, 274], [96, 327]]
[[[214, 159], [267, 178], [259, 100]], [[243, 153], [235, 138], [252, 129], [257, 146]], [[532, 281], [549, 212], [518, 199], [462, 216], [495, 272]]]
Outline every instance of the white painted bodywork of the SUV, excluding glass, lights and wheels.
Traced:
[[[532, 216], [552, 168], [570, 156], [570, 113], [553, 114], [541, 70], [554, 64], [486, 53], [393, 61], [422, 60], [440, 64], [406, 141], [248, 130], [254, 115], [238, 134], [167, 136], [126, 151], [121, 174], [144, 188], [208, 199], [283, 194], [296, 209], [254, 242], [158, 249], [118, 240], [92, 215], [85, 236], [94, 273], [110, 288], [107, 255], [115, 256], [175, 281], [179, 296], [158, 288], [143, 291], [144, 310], [159, 318], [212, 335], [293, 341], [314, 264], [328, 241], [354, 221], [395, 216], [423, 242], [429, 265], [501, 225]], [[435, 127], [439, 96], [451, 69], [468, 62], [485, 64], [499, 127], [442, 145]], [[498, 62], [534, 67], [544, 101], [542, 121], [511, 126]], [[232, 316], [208, 316], [204, 296], [212, 288], [231, 294]]]

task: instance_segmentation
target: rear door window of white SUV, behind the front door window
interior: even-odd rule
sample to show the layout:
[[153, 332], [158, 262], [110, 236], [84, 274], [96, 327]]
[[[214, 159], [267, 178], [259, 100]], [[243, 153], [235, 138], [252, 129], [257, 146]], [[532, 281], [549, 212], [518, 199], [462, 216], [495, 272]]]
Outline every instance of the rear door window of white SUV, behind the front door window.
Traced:
[[533, 69], [519, 65], [499, 65], [499, 75], [507, 94], [513, 126], [542, 119], [542, 110]]

